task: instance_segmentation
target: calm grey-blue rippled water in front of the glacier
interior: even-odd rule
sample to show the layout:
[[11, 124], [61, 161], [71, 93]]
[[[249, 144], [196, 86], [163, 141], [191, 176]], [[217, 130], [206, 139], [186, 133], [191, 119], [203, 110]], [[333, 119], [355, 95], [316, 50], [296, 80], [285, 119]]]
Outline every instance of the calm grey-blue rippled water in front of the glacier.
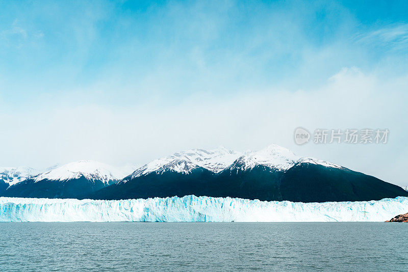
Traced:
[[0, 270], [408, 270], [403, 223], [0, 223]]

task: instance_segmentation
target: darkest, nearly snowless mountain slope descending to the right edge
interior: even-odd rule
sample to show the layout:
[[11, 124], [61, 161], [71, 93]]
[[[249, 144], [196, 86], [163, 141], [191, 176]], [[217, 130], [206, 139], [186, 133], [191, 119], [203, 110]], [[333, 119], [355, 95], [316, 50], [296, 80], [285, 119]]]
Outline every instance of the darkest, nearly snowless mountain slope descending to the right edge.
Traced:
[[397, 185], [346, 168], [296, 164], [281, 181], [282, 197], [294, 202], [368, 201], [408, 196]]

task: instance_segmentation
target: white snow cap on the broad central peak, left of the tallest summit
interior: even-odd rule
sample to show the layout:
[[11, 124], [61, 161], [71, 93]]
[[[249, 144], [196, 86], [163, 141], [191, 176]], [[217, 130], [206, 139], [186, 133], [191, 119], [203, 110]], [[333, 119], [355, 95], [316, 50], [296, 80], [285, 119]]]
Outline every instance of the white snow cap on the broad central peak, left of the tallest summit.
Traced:
[[137, 169], [131, 177], [139, 177], [150, 172], [161, 173], [166, 170], [187, 174], [198, 167], [218, 173], [231, 165], [240, 155], [241, 153], [222, 146], [211, 150], [190, 149], [152, 160]]

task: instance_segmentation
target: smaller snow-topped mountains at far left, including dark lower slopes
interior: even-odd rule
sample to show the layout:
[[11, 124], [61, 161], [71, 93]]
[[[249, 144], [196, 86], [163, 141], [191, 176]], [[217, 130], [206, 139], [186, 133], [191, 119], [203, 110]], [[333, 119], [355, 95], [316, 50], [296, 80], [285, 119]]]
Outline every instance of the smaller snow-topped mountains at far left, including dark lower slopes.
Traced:
[[[15, 168], [21, 169], [21, 168]], [[1, 170], [1, 169], [0, 169]], [[3, 193], [5, 197], [30, 198], [82, 198], [103, 187], [118, 182], [135, 170], [132, 165], [113, 167], [92, 160], [81, 160], [53, 167], [43, 173], [33, 169], [4, 172]], [[17, 173], [21, 174], [18, 177]], [[33, 174], [35, 173], [35, 174]], [[32, 175], [30, 175], [32, 174]], [[11, 177], [14, 176], [14, 179]], [[2, 174], [0, 174], [2, 177]], [[7, 182], [7, 180], [10, 180]], [[6, 181], [6, 182], [5, 182]]]

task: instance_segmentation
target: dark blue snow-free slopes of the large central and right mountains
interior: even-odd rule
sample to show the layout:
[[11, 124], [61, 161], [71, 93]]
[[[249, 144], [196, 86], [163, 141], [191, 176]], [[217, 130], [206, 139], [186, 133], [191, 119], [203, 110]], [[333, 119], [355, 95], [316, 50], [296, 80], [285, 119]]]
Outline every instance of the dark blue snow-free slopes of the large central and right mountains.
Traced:
[[380, 200], [408, 196], [408, 192], [346, 168], [301, 163], [285, 172], [265, 166], [248, 170], [227, 168], [218, 174], [203, 168], [188, 174], [151, 172], [110, 185], [88, 197], [118, 200], [186, 195], [325, 202]]

